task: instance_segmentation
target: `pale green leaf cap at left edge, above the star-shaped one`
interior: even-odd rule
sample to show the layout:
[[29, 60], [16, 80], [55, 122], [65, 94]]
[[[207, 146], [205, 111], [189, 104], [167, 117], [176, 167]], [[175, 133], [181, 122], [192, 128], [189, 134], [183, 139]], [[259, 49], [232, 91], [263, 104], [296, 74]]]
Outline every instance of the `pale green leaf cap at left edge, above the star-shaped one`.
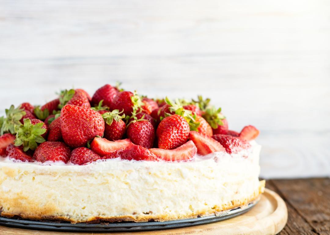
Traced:
[[6, 118], [3, 119], [3, 123], [0, 129], [0, 135], [3, 133], [10, 132], [15, 134], [15, 125], [20, 125], [19, 120], [26, 114], [24, 109], [15, 108], [14, 105], [11, 105], [9, 109], [6, 109]]

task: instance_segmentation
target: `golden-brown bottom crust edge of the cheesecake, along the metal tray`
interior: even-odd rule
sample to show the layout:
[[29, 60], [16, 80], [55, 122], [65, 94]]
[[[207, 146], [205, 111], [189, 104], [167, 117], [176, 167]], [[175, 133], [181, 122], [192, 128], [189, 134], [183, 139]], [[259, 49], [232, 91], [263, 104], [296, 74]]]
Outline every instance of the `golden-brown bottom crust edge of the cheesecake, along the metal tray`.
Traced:
[[193, 219], [197, 217], [206, 217], [211, 215], [218, 215], [220, 213], [223, 213], [227, 210], [237, 208], [240, 206], [248, 205], [248, 203], [256, 201], [261, 194], [265, 190], [265, 180], [259, 181], [259, 187], [256, 191], [253, 192], [253, 194], [240, 199], [240, 200], [232, 200], [229, 203], [222, 204], [220, 206], [216, 206], [214, 209], [210, 210], [203, 210], [203, 211], [197, 211], [192, 212], [191, 214], [187, 215], [178, 215], [178, 216], [169, 216], [167, 214], [145, 214], [145, 215], [124, 215], [124, 216], [111, 216], [111, 217], [103, 217], [103, 216], [92, 216], [89, 217], [86, 220], [77, 220], [75, 218], [65, 217], [65, 216], [39, 216], [39, 215], [33, 215], [31, 213], [19, 213], [19, 214], [13, 214], [13, 213], [7, 213], [1, 211], [2, 217], [12, 218], [14, 216], [18, 216], [23, 219], [29, 219], [29, 220], [63, 220], [63, 221], [69, 221], [71, 223], [98, 223], [101, 221], [104, 222], [121, 222], [121, 221], [134, 221], [134, 222], [148, 222], [150, 220], [153, 221], [169, 221], [169, 220], [183, 220], [183, 219]]

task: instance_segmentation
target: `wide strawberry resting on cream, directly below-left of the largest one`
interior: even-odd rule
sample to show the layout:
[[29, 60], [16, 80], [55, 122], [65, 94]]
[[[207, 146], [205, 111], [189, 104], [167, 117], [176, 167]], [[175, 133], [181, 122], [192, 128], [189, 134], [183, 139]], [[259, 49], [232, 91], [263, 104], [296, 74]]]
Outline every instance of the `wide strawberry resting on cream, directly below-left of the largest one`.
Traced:
[[70, 159], [70, 148], [63, 142], [46, 141], [41, 143], [33, 154], [38, 162], [62, 161], [68, 162]]

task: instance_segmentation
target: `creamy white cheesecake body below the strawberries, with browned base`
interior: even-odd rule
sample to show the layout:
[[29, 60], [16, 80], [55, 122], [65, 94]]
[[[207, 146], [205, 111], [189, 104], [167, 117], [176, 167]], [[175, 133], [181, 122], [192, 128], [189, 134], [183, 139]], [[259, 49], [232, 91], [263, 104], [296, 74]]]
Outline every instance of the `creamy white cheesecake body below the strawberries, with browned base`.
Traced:
[[255, 199], [260, 145], [185, 162], [117, 159], [87, 165], [0, 160], [2, 216], [157, 221], [216, 214]]

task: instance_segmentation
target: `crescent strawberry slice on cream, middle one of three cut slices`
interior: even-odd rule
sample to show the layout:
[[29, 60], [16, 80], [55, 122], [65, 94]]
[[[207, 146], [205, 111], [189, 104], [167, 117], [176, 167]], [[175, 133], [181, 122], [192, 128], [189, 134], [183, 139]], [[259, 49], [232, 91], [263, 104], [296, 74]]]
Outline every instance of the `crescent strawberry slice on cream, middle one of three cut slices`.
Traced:
[[149, 149], [151, 153], [155, 154], [158, 159], [164, 161], [179, 162], [193, 158], [197, 153], [195, 144], [189, 140], [176, 149]]

